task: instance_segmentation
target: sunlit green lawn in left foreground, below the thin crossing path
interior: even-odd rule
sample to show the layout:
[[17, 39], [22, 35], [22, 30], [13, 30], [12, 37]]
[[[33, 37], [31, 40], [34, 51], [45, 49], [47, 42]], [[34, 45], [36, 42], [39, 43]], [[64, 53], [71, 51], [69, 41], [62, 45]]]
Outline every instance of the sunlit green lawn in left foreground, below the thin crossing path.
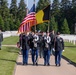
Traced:
[[2, 47], [0, 50], [0, 75], [13, 74], [18, 52], [18, 48]]

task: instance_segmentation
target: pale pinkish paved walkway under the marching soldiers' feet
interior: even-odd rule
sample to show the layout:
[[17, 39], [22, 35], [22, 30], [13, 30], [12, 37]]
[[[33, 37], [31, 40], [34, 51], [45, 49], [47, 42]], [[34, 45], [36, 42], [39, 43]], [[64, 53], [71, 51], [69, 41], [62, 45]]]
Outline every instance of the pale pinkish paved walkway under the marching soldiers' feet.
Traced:
[[76, 75], [76, 67], [62, 59], [62, 65], [56, 67], [54, 56], [51, 56], [51, 66], [43, 66], [43, 59], [39, 58], [39, 66], [33, 66], [31, 56], [29, 56], [29, 65], [22, 65], [22, 55], [19, 55], [14, 75]]

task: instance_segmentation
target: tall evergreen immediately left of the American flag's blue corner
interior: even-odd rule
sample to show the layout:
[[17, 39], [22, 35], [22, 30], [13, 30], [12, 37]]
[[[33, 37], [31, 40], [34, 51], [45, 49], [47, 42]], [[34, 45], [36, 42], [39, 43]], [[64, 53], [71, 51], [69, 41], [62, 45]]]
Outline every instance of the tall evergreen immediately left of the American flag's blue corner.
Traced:
[[18, 12], [17, 12], [17, 18], [19, 18], [21, 22], [25, 16], [26, 16], [26, 4], [24, 0], [20, 0]]

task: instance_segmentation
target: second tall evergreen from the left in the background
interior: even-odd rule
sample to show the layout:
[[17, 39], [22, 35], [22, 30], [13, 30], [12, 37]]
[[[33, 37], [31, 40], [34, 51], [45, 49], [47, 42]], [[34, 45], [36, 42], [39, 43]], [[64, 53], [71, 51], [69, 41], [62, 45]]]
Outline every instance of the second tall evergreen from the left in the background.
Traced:
[[13, 15], [15, 20], [17, 17], [17, 0], [11, 0], [10, 13]]

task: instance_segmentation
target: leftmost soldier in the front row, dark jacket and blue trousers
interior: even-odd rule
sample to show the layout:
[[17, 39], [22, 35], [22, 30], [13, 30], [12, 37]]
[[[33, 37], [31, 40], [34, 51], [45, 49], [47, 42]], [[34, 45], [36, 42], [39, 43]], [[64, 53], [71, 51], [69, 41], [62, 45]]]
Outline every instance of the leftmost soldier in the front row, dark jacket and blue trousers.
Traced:
[[23, 65], [28, 64], [28, 50], [29, 50], [29, 39], [26, 34], [22, 35], [22, 55], [23, 55]]

